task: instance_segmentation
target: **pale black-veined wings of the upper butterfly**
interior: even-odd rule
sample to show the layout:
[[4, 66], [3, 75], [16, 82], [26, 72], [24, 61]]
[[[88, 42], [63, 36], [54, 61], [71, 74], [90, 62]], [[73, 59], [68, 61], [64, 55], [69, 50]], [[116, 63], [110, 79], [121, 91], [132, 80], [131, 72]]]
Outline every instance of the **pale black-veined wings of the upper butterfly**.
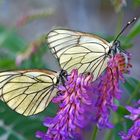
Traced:
[[96, 80], [107, 67], [109, 43], [96, 35], [56, 29], [49, 32], [47, 42], [68, 72], [77, 68], [79, 73], [93, 73]]

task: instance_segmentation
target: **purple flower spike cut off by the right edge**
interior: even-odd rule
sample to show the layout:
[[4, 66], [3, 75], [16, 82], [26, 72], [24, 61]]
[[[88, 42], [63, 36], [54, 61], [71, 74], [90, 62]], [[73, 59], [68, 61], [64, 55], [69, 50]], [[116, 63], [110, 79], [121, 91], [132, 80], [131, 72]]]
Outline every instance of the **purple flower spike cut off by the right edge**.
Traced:
[[131, 113], [125, 116], [134, 121], [133, 126], [128, 133], [120, 132], [122, 140], [140, 140], [140, 100], [137, 102], [137, 108], [127, 106], [126, 109]]

